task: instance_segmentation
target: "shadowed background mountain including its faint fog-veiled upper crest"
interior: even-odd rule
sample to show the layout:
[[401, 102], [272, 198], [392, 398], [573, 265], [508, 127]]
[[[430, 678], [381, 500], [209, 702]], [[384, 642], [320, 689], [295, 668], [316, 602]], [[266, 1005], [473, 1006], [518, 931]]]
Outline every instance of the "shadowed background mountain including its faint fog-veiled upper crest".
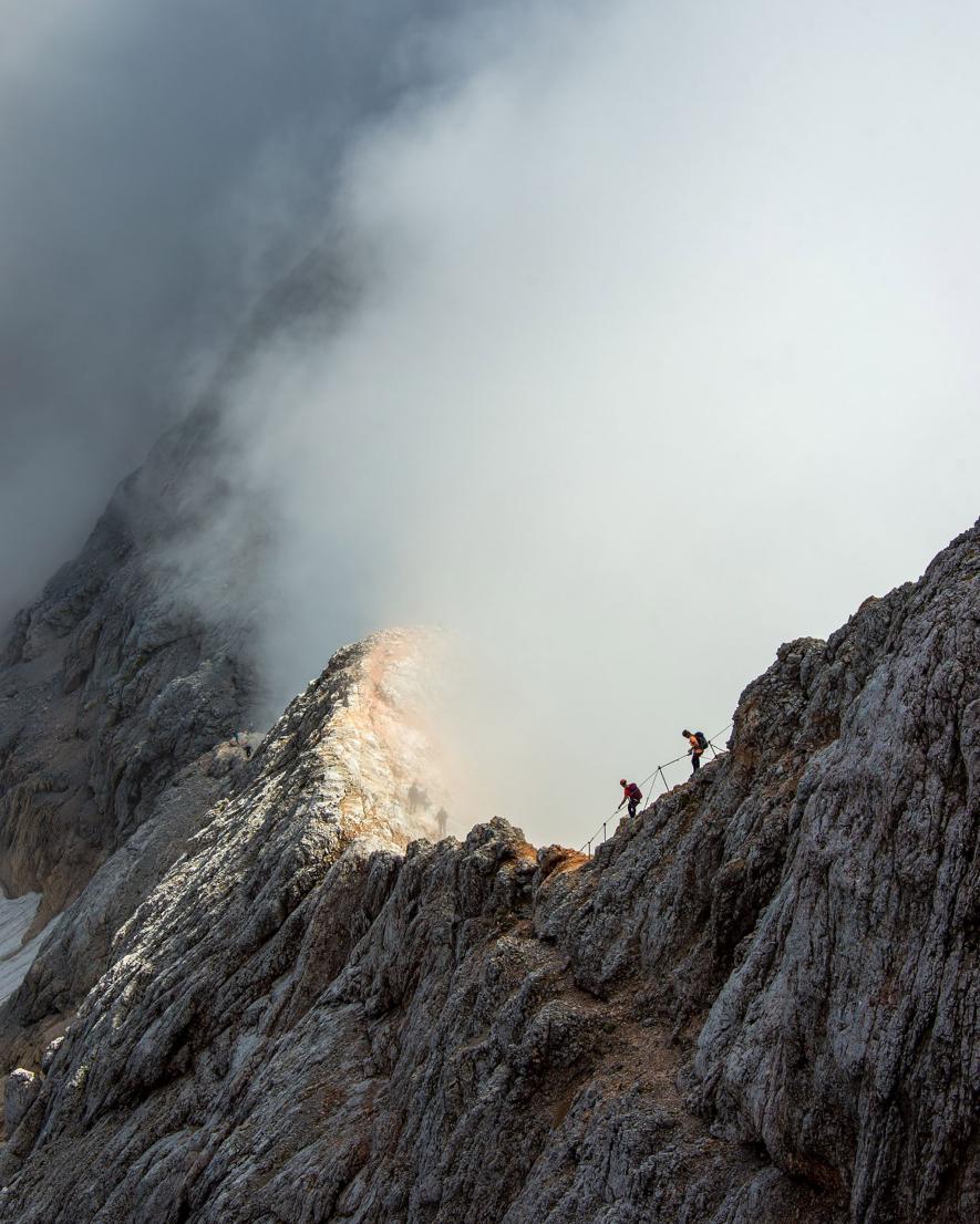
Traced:
[[[0, 625], [0, 889], [42, 895], [28, 940], [152, 824], [149, 853], [136, 845], [126, 864], [102, 871], [103, 897], [110, 878], [134, 903], [142, 897], [223, 793], [236, 753], [212, 754], [232, 736], [241, 748], [238, 733], [254, 717], [268, 722], [252, 657], [258, 606], [274, 599], [262, 573], [268, 513], [257, 490], [238, 487], [225, 401], [266, 344], [310, 326], [322, 334], [354, 295], [333, 247], [272, 284], [197, 408], [119, 486], [81, 553]], [[176, 776], [196, 793], [185, 812], [160, 812]], [[123, 868], [137, 863], [135, 889]], [[28, 1013], [54, 1023], [51, 1006], [67, 1015], [104, 968], [107, 939], [131, 908], [87, 908], [61, 925], [71, 946], [55, 956], [83, 971], [49, 967], [67, 991], [21, 998], [15, 1029]], [[82, 929], [94, 936], [88, 949]], [[0, 1058], [10, 1029], [0, 1013]]]

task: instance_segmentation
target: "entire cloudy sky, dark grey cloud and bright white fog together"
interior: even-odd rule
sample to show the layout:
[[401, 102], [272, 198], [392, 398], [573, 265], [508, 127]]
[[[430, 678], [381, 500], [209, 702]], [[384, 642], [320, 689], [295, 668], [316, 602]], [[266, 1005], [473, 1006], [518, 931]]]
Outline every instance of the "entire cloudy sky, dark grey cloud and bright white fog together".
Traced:
[[60, 7], [0, 86], [13, 586], [325, 230], [356, 308], [227, 425], [281, 525], [265, 661], [285, 698], [445, 624], [457, 831], [584, 840], [976, 517], [975, 6]]

